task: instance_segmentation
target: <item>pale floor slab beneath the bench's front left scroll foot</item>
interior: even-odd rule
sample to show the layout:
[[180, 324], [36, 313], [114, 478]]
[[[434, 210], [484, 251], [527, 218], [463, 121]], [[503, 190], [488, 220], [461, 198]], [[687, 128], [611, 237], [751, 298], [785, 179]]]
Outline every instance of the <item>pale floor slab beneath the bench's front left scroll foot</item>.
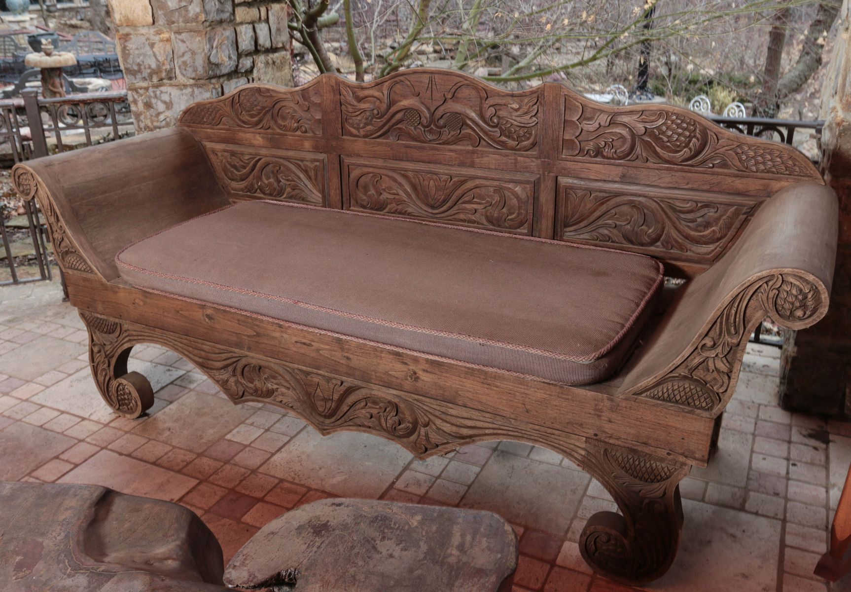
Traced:
[[[136, 359], [130, 360], [128, 368], [130, 371], [141, 372], [151, 381], [151, 388], [155, 393], [169, 382], [186, 374], [186, 371], [171, 366], [141, 362]], [[60, 411], [94, 419], [96, 422], [110, 422], [116, 417], [100, 398], [89, 368], [83, 368], [53, 386], [45, 388], [31, 400], [40, 405], [48, 405]]]

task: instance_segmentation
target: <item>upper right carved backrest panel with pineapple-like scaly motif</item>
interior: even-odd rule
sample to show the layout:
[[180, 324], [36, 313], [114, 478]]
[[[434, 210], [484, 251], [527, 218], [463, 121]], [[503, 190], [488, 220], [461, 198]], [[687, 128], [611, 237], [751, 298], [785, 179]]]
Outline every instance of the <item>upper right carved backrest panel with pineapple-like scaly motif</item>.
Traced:
[[796, 149], [665, 106], [605, 108], [565, 91], [562, 156], [819, 180]]

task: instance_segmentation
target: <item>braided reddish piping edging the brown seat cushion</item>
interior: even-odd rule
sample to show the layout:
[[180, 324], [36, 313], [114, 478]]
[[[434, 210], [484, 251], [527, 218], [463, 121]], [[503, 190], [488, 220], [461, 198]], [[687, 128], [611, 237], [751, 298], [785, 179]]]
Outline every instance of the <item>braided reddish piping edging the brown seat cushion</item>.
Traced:
[[[578, 247], [578, 248], [583, 248], [583, 249], [607, 250], [607, 251], [611, 251], [611, 252], [623, 253], [625, 255], [643, 257], [643, 258], [652, 260], [652, 257], [637, 255], [635, 253], [630, 253], [630, 252], [627, 252], [627, 251], [620, 251], [620, 250], [616, 250], [616, 249], [607, 249], [605, 247], [592, 246], [592, 245], [588, 245], [588, 244], [565, 243], [563, 241], [557, 241], [557, 240], [552, 240], [552, 239], [540, 239], [539, 237], [526, 237], [526, 236], [518, 236], [516, 234], [498, 233], [498, 232], [489, 231], [489, 230], [482, 230], [482, 229], [479, 229], [479, 228], [454, 227], [452, 225], [439, 224], [439, 223], [430, 222], [430, 221], [408, 220], [408, 219], [403, 219], [403, 218], [400, 219], [400, 218], [397, 218], [395, 216], [376, 216], [376, 215], [373, 215], [373, 214], [366, 214], [366, 213], [363, 213], [363, 212], [352, 212], [352, 211], [349, 211], [349, 210], [330, 210], [328, 208], [323, 208], [323, 207], [313, 206], [313, 205], [307, 205], [307, 204], [288, 204], [288, 203], [284, 203], [284, 202], [271, 201], [271, 200], [267, 200], [267, 199], [262, 199], [262, 200], [258, 200], [258, 201], [260, 201], [261, 203], [264, 203], [264, 204], [273, 204], [273, 205], [280, 205], [280, 206], [285, 206], [285, 207], [306, 208], [306, 209], [311, 209], [311, 210], [322, 210], [322, 211], [325, 211], [325, 212], [340, 212], [340, 213], [351, 215], [351, 216], [374, 216], [374, 217], [391, 218], [392, 220], [401, 220], [401, 221], [412, 222], [412, 223], [417, 223], [417, 224], [426, 224], [428, 226], [449, 227], [449, 228], [453, 228], [453, 229], [457, 229], [457, 230], [461, 230], [461, 231], [465, 231], [465, 232], [494, 234], [494, 235], [500, 236], [500, 237], [511, 237], [512, 239], [521, 239], [521, 240], [534, 240], [534, 241], [537, 241], [537, 242], [561, 244], [561, 245]], [[241, 202], [241, 204], [242, 203], [244, 203], [244, 202]], [[217, 214], [217, 213], [219, 213], [223, 210], [227, 210], [228, 208], [232, 208], [236, 205], [239, 205], [239, 204], [226, 205], [226, 206], [218, 208], [216, 210], [207, 212], [206, 214], [203, 214], [201, 216], [196, 216], [194, 218], [191, 218], [190, 220], [180, 222], [180, 224], [176, 224], [172, 227], [165, 228], [165, 229], [163, 229], [163, 230], [161, 230], [157, 233], [151, 234], [151, 236], [148, 236], [144, 239], [140, 239], [138, 241], [135, 241], [134, 243], [129, 244], [127, 247], [123, 248], [122, 250], [120, 250], [117, 253], [117, 255], [115, 256], [115, 262], [116, 262], [117, 265], [120, 265], [121, 267], [124, 267], [126, 269], [129, 269], [129, 270], [132, 270], [132, 271], [135, 271], [135, 272], [138, 272], [138, 273], [145, 273], [146, 275], [152, 275], [152, 276], [155, 276], [157, 278], [171, 279], [173, 281], [185, 282], [187, 284], [206, 285], [206, 286], [214, 288], [216, 290], [225, 290], [225, 291], [230, 291], [230, 292], [236, 292], [237, 294], [243, 294], [245, 296], [254, 296], [254, 297], [260, 297], [260, 298], [266, 298], [268, 300], [273, 300], [273, 301], [277, 301], [277, 302], [286, 302], [287, 304], [291, 304], [291, 305], [294, 305], [294, 306], [304, 307], [304, 308], [307, 308], [307, 309], [310, 309], [310, 310], [315, 310], [315, 311], [319, 311], [319, 312], [323, 312], [323, 313], [334, 314], [334, 315], [337, 315], [337, 316], [340, 316], [340, 317], [346, 318], [346, 319], [356, 319], [356, 320], [360, 320], [360, 321], [363, 321], [363, 322], [373, 323], [375, 325], [387, 326], [387, 327], [391, 327], [393, 329], [409, 330], [409, 331], [424, 333], [426, 335], [433, 335], [433, 336], [450, 337], [450, 338], [459, 339], [459, 340], [468, 341], [468, 342], [473, 342], [473, 343], [483, 343], [483, 344], [487, 344], [487, 345], [494, 346], [494, 347], [514, 349], [514, 350], [523, 351], [523, 352], [526, 352], [526, 353], [534, 353], [536, 355], [542, 355], [542, 356], [549, 357], [549, 358], [552, 358], [552, 359], [562, 359], [562, 360], [566, 360], [566, 361], [570, 361], [570, 362], [576, 362], [576, 363], [580, 363], [580, 364], [590, 363], [590, 362], [596, 361], [597, 359], [600, 359], [606, 353], [609, 353], [620, 342], [620, 340], [623, 338], [623, 336], [625, 336], [632, 329], [632, 325], [635, 323], [638, 316], [643, 312], [644, 307], [647, 306], [650, 299], [654, 296], [656, 290], [659, 288], [659, 285], [660, 285], [660, 283], [662, 282], [662, 279], [663, 279], [664, 267], [661, 265], [660, 262], [657, 261], [656, 264], [660, 267], [659, 276], [656, 278], [654, 285], [644, 295], [642, 301], [638, 303], [636, 311], [631, 315], [630, 319], [627, 320], [627, 322], [625, 323], [623, 328], [618, 332], [618, 334], [615, 335], [605, 346], [603, 346], [603, 348], [600, 348], [599, 350], [597, 350], [597, 352], [594, 352], [594, 353], [591, 353], [591, 354], [588, 354], [588, 355], [585, 355], [585, 356], [574, 356], [574, 355], [570, 355], [570, 354], [567, 354], [567, 353], [550, 352], [550, 351], [545, 350], [545, 349], [534, 348], [534, 347], [531, 347], [531, 346], [524, 346], [524, 345], [520, 345], [520, 344], [517, 344], [517, 343], [502, 342], [502, 341], [499, 341], [499, 340], [492, 340], [492, 339], [487, 339], [487, 338], [483, 338], [483, 337], [469, 336], [469, 335], [465, 335], [465, 334], [462, 334], [462, 333], [454, 333], [452, 331], [427, 329], [426, 327], [418, 327], [418, 326], [415, 326], [415, 325], [406, 325], [406, 324], [403, 324], [403, 323], [397, 323], [396, 321], [390, 321], [390, 320], [386, 320], [386, 319], [376, 319], [374, 317], [368, 317], [368, 316], [365, 316], [365, 315], [362, 315], [362, 314], [346, 313], [345, 311], [335, 310], [334, 308], [322, 307], [322, 306], [318, 306], [316, 304], [311, 304], [309, 302], [300, 302], [300, 301], [297, 301], [297, 300], [293, 300], [291, 298], [287, 298], [285, 296], [277, 296], [277, 295], [273, 295], [273, 294], [266, 294], [265, 292], [258, 292], [258, 291], [255, 291], [255, 290], [247, 290], [245, 288], [237, 288], [236, 286], [231, 286], [231, 285], [217, 284], [217, 283], [214, 283], [214, 282], [209, 282], [205, 279], [186, 278], [184, 276], [175, 275], [175, 274], [172, 274], [172, 273], [161, 273], [161, 272], [154, 271], [152, 269], [146, 269], [145, 267], [136, 266], [132, 263], [123, 262], [122, 259], [121, 259], [121, 256], [123, 255], [124, 251], [133, 247], [135, 244], [139, 244], [140, 242], [147, 240], [147, 239], [152, 239], [153, 237], [155, 237], [155, 236], [157, 236], [161, 233], [165, 233], [169, 230], [173, 230], [174, 228], [183, 226], [184, 224], [187, 224], [191, 221], [195, 221], [198, 218], [202, 218], [204, 216], [212, 216], [212, 215]], [[177, 295], [173, 295], [173, 296], [177, 296]], [[245, 311], [245, 312], [248, 312], [248, 311]]]

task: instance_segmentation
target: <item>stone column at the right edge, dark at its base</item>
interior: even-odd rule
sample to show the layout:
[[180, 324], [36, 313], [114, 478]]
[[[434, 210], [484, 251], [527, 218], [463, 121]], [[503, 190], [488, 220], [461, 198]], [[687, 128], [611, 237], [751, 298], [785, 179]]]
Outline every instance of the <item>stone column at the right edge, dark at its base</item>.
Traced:
[[822, 173], [839, 197], [839, 246], [831, 307], [817, 325], [786, 340], [780, 365], [780, 404], [790, 411], [851, 417], [851, 3], [839, 32], [820, 118]]

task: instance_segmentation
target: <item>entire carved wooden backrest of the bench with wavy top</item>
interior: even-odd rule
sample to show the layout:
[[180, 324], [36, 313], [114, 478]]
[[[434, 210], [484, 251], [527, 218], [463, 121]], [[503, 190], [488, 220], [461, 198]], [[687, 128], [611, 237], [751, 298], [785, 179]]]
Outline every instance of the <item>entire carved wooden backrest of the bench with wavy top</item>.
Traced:
[[243, 86], [186, 109], [231, 199], [403, 216], [660, 258], [717, 261], [765, 199], [822, 182], [794, 148], [672, 106], [603, 106], [558, 83], [497, 89], [413, 69]]

